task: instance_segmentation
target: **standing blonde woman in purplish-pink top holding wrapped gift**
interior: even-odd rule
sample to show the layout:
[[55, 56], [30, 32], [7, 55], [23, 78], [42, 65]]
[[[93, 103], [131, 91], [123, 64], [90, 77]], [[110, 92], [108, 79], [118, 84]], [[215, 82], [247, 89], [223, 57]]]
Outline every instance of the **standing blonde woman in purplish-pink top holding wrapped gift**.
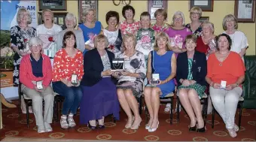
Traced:
[[172, 17], [172, 26], [166, 31], [171, 41], [172, 51], [183, 53], [186, 51], [184, 41], [187, 35], [191, 35], [190, 29], [185, 27], [184, 14], [181, 11], [176, 11]]

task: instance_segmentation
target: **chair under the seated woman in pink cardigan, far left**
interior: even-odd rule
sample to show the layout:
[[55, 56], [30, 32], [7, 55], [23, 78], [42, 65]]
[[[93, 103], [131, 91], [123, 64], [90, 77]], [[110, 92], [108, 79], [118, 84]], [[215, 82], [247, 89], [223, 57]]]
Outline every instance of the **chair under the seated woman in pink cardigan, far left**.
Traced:
[[29, 104], [32, 105], [32, 99], [27, 97], [26, 95], [21, 92], [21, 83], [18, 86], [18, 93], [19, 93], [19, 121], [21, 116], [21, 96], [23, 95], [25, 103], [26, 103], [26, 126], [29, 128]]

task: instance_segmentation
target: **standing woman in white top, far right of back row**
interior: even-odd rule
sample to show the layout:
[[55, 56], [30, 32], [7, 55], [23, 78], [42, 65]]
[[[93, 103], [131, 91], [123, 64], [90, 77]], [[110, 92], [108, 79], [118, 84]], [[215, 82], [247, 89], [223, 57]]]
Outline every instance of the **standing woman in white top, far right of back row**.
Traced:
[[248, 41], [245, 34], [238, 29], [238, 23], [236, 17], [232, 14], [228, 14], [224, 17], [222, 22], [223, 33], [230, 36], [232, 40], [231, 51], [239, 53], [242, 57], [245, 55], [246, 48], [248, 47]]

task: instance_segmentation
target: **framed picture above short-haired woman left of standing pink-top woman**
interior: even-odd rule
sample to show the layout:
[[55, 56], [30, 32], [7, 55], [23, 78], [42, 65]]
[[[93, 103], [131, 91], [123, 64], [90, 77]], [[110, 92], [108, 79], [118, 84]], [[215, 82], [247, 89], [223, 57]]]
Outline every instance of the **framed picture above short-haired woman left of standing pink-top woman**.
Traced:
[[166, 0], [148, 1], [148, 13], [151, 14], [151, 20], [156, 20], [156, 18], [154, 17], [154, 12], [157, 11], [157, 9], [163, 8], [167, 11], [167, 4], [168, 1]]

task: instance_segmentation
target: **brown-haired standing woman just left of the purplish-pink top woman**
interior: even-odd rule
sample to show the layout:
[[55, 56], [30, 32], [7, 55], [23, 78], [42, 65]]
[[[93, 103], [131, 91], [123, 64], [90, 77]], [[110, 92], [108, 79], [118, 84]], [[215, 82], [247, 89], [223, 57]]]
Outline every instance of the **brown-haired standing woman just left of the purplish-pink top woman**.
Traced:
[[154, 31], [158, 32], [166, 32], [167, 29], [169, 29], [169, 24], [164, 23], [164, 20], [167, 18], [167, 13], [163, 8], [157, 9], [156, 12], [154, 12], [154, 17], [156, 18], [157, 22], [154, 23], [152, 26], [152, 29]]

